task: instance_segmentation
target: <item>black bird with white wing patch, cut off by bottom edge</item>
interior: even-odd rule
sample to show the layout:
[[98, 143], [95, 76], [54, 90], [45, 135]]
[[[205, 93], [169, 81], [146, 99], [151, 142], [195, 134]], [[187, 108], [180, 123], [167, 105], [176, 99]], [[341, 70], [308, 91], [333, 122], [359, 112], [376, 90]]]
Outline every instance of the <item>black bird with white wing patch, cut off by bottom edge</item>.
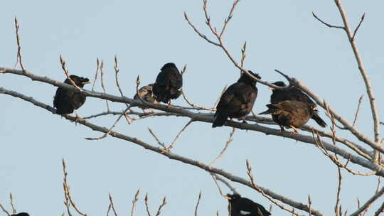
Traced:
[[269, 216], [270, 212], [265, 210], [262, 205], [253, 202], [248, 198], [242, 198], [239, 194], [227, 194], [228, 211], [230, 216]]

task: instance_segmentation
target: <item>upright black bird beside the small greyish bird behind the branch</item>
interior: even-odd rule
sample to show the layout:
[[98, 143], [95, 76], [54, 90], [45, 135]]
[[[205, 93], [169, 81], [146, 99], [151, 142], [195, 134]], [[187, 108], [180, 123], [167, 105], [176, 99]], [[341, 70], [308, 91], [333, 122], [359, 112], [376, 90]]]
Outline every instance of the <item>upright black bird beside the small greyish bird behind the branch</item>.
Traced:
[[156, 77], [153, 86], [154, 96], [159, 102], [171, 104], [171, 99], [181, 95], [181, 87], [183, 87], [181, 73], [174, 63], [166, 63]]

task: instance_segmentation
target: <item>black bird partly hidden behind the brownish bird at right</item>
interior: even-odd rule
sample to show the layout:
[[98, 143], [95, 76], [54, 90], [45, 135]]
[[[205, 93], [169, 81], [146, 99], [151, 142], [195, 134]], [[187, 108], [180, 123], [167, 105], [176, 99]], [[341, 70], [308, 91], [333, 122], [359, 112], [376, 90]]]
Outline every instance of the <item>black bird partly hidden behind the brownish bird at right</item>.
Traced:
[[[280, 87], [286, 86], [284, 82], [274, 82], [273, 85], [277, 85]], [[299, 90], [297, 87], [290, 87], [289, 90], [275, 90], [272, 89], [272, 95], [271, 95], [271, 103], [275, 104], [277, 102], [282, 102], [284, 100], [296, 100], [299, 102], [304, 102], [309, 104], [310, 107], [314, 107], [314, 112], [312, 112], [311, 119], [314, 119], [317, 124], [319, 124], [322, 127], [326, 127], [326, 122], [319, 117], [319, 114], [317, 113], [318, 110], [316, 108], [316, 104], [311, 100], [311, 98], [308, 97], [302, 90]]]

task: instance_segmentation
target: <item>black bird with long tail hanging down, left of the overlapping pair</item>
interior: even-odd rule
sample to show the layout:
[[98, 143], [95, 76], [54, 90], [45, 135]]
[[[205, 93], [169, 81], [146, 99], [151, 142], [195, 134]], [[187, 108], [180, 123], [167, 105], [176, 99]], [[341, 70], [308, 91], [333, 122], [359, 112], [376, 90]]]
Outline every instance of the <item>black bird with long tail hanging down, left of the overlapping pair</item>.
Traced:
[[[252, 75], [261, 79], [258, 74], [254, 74], [248, 70]], [[242, 73], [238, 82], [230, 85], [227, 90], [220, 97], [218, 106], [216, 107], [215, 120], [212, 127], [223, 126], [227, 118], [244, 118], [250, 114], [255, 104], [257, 97], [256, 80], [248, 76], [245, 72]], [[243, 119], [244, 120], [244, 119]]]

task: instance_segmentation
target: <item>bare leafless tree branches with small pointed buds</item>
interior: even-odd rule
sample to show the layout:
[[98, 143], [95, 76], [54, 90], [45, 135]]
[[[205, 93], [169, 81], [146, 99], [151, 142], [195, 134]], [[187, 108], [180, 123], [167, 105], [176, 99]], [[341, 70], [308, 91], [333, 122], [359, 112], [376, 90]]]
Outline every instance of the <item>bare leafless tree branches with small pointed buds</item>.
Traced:
[[[244, 67], [244, 61], [246, 57], [246, 43], [242, 45], [242, 52], [240, 56], [240, 62], [235, 59], [233, 54], [228, 50], [227, 46], [225, 45], [225, 41], [223, 40], [223, 35], [225, 34], [225, 31], [227, 29], [227, 26], [230, 23], [231, 18], [233, 18], [236, 6], [238, 6], [240, 0], [235, 0], [233, 2], [233, 5], [230, 9], [230, 12], [228, 16], [224, 19], [223, 28], [218, 29], [215, 27], [214, 23], [210, 20], [209, 10], [208, 10], [208, 0], [203, 0], [203, 16], [205, 16], [206, 25], [208, 26], [209, 33], [205, 34], [203, 33], [198, 25], [196, 23], [193, 23], [192, 18], [190, 18], [187, 13], [184, 13], [184, 18], [189, 26], [193, 29], [193, 31], [200, 36], [204, 41], [208, 43], [208, 45], [214, 45], [220, 48], [220, 50], [225, 53], [225, 55], [228, 57], [228, 60], [230, 60], [231, 63], [233, 63], [233, 66], [235, 68], [238, 68], [241, 72], [245, 72], [250, 75], [247, 68]], [[143, 148], [153, 151], [155, 153], [162, 154], [169, 159], [179, 161], [181, 163], [185, 163], [191, 166], [196, 166], [197, 168], [201, 168], [202, 171], [207, 171], [213, 176], [213, 180], [217, 183], [216, 180], [220, 180], [224, 185], [227, 185], [230, 190], [233, 190], [234, 193], [236, 193], [233, 186], [230, 185], [229, 181], [232, 183], [239, 183], [242, 185], [247, 186], [250, 188], [250, 190], [255, 190], [257, 193], [261, 193], [265, 198], [270, 200], [272, 202], [272, 205], [276, 205], [277, 207], [281, 208], [282, 210], [286, 210], [287, 212], [290, 212], [292, 215], [303, 215], [303, 212], [307, 212], [309, 215], [316, 215], [321, 216], [324, 215], [321, 210], [315, 209], [313, 206], [311, 206], [311, 197], [309, 196], [308, 201], [302, 202], [299, 200], [294, 200], [292, 198], [289, 198], [285, 195], [279, 194], [274, 192], [271, 188], [265, 188], [260, 185], [257, 185], [255, 183], [255, 180], [252, 175], [252, 167], [250, 166], [250, 163], [245, 164], [247, 167], [247, 176], [248, 178], [242, 178], [237, 175], [233, 175], [232, 173], [225, 171], [223, 169], [215, 168], [213, 165], [215, 161], [217, 161], [226, 151], [227, 146], [230, 144], [232, 140], [232, 136], [235, 133], [235, 130], [247, 130], [252, 131], [255, 133], [264, 133], [272, 136], [282, 136], [286, 139], [291, 139], [294, 141], [299, 141], [304, 144], [309, 144], [313, 146], [314, 148], [319, 148], [319, 152], [324, 153], [324, 156], [329, 158], [329, 160], [335, 164], [337, 167], [337, 173], [338, 173], [338, 187], [337, 187], [337, 197], [336, 197], [336, 204], [334, 205], [334, 212], [335, 215], [347, 215], [348, 212], [343, 212], [341, 209], [341, 198], [340, 198], [340, 191], [342, 187], [342, 180], [343, 176], [341, 175], [341, 170], [346, 170], [348, 173], [351, 173], [353, 175], [377, 175], [379, 177], [377, 190], [372, 195], [372, 197], [366, 202], [362, 203], [362, 205], [358, 205], [356, 207], [356, 210], [354, 212], [350, 212], [350, 215], [365, 215], [368, 211], [369, 207], [375, 202], [375, 200], [378, 200], [383, 193], [384, 193], [384, 187], [380, 185], [380, 177], [384, 177], [384, 166], [383, 166], [383, 158], [382, 155], [384, 153], [384, 139], [380, 136], [380, 124], [383, 124], [382, 121], [380, 121], [380, 117], [378, 115], [378, 108], [376, 107], [375, 103], [375, 96], [373, 92], [373, 87], [370, 84], [370, 80], [368, 78], [368, 72], [366, 68], [363, 65], [363, 60], [361, 58], [361, 54], [358, 50], [358, 46], [356, 44], [356, 36], [358, 33], [358, 29], [363, 24], [365, 14], [361, 16], [361, 20], [358, 23], [358, 26], [356, 28], [351, 28], [350, 24], [348, 23], [348, 18], [346, 16], [346, 11], [343, 9], [343, 6], [341, 5], [340, 0], [334, 0], [336, 4], [336, 8], [338, 9], [341, 19], [343, 21], [342, 26], [335, 26], [333, 24], [327, 23], [324, 21], [323, 18], [319, 18], [319, 16], [316, 16], [315, 13], [312, 13], [314, 18], [320, 22], [320, 24], [324, 24], [325, 26], [329, 28], [336, 28], [336, 30], [343, 31], [346, 33], [346, 40], [348, 40], [348, 43], [351, 45], [353, 55], [356, 58], [356, 63], [358, 65], [358, 71], [361, 74], [361, 77], [363, 79], [364, 85], [366, 87], [366, 94], [368, 95], [368, 99], [370, 102], [370, 111], [372, 114], [372, 121], [373, 121], [373, 138], [370, 138], [370, 136], [363, 134], [363, 132], [359, 131], [359, 129], [355, 126], [356, 119], [358, 118], [358, 110], [361, 105], [361, 99], [358, 102], [358, 107], [356, 109], [356, 115], [354, 117], [354, 121], [348, 121], [345, 117], [343, 117], [342, 114], [339, 114], [336, 112], [334, 108], [332, 108], [332, 105], [327, 103], [324, 99], [321, 99], [321, 96], [317, 95], [316, 92], [312, 91], [309, 87], [307, 87], [304, 82], [298, 80], [293, 75], [287, 75], [284, 72], [281, 72], [280, 70], [275, 70], [280, 75], [282, 75], [287, 81], [289, 82], [289, 85], [293, 85], [295, 87], [298, 87], [302, 89], [304, 92], [306, 92], [307, 95], [309, 95], [316, 104], [318, 104], [327, 114], [327, 117], [331, 120], [331, 126], [329, 127], [329, 131], [316, 129], [313, 126], [304, 126], [302, 130], [304, 132], [299, 134], [292, 134], [289, 131], [281, 132], [278, 129], [274, 129], [270, 127], [270, 125], [275, 124], [274, 121], [270, 118], [265, 117], [259, 117], [255, 114], [252, 114], [248, 117], [246, 117], [247, 124], [242, 124], [240, 122], [236, 121], [230, 121], [226, 126], [232, 127], [233, 130], [230, 132], [228, 141], [225, 144], [225, 148], [223, 148], [223, 151], [218, 153], [218, 157], [210, 164], [203, 163], [201, 161], [193, 160], [192, 158], [186, 158], [184, 156], [178, 155], [176, 153], [171, 152], [171, 148], [174, 147], [176, 144], [176, 141], [178, 139], [178, 136], [180, 136], [183, 131], [186, 130], [186, 128], [193, 124], [193, 122], [201, 121], [205, 122], [207, 124], [210, 124], [213, 122], [213, 111], [215, 111], [214, 107], [202, 107], [199, 106], [196, 103], [191, 102], [187, 97], [185, 92], [183, 92], [183, 99], [187, 102], [189, 105], [188, 107], [181, 107], [181, 106], [172, 106], [168, 107], [166, 105], [162, 104], [151, 104], [149, 102], [144, 102], [142, 99], [132, 99], [129, 97], [124, 96], [118, 79], [118, 60], [115, 57], [114, 58], [114, 75], [116, 80], [116, 87], [119, 90], [120, 95], [111, 95], [107, 93], [107, 90], [105, 89], [105, 85], [103, 84], [103, 63], [99, 60], [97, 60], [97, 71], [95, 74], [95, 80], [96, 82], [98, 78], [98, 73], [100, 72], [100, 82], [102, 84], [103, 92], [96, 92], [94, 91], [92, 87], [92, 91], [90, 90], [83, 90], [80, 87], [74, 87], [72, 85], [64, 84], [63, 82], [59, 82], [57, 80], [52, 80], [47, 76], [39, 76], [34, 74], [32, 71], [28, 71], [26, 69], [26, 65], [23, 65], [23, 59], [21, 58], [21, 43], [20, 43], [20, 36], [18, 33], [18, 21], [15, 18], [15, 26], [16, 26], [16, 41], [18, 45], [17, 50], [17, 61], [18, 64], [21, 67], [21, 70], [14, 69], [14, 68], [6, 68], [6, 65], [4, 65], [4, 68], [0, 68], [0, 73], [2, 74], [12, 74], [15, 76], [23, 76], [28, 77], [32, 80], [32, 82], [36, 82], [36, 85], [39, 85], [39, 82], [43, 82], [48, 85], [54, 85], [56, 87], [63, 87], [66, 90], [72, 90], [75, 92], [81, 92], [83, 95], [87, 97], [95, 97], [97, 99], [105, 100], [107, 109], [105, 112], [97, 113], [97, 114], [91, 114], [88, 117], [84, 117], [83, 119], [75, 119], [75, 117], [67, 114], [63, 117], [69, 121], [77, 121], [78, 124], [82, 124], [92, 130], [100, 131], [102, 136], [96, 137], [96, 138], [87, 138], [90, 140], [100, 140], [104, 139], [107, 136], [112, 136], [115, 139], [120, 139], [122, 141], [128, 141], [132, 144], [136, 144], [138, 146], [142, 146]], [[65, 65], [65, 60], [63, 58], [60, 58], [60, 63], [63, 68], [63, 72], [65, 72], [65, 76], [68, 77], [68, 70]], [[186, 67], [183, 68], [183, 72], [186, 71]], [[183, 73], [182, 72], [182, 73]], [[251, 75], [252, 76], [252, 75]], [[259, 80], [257, 77], [253, 77], [257, 82], [260, 82], [262, 85], [267, 85], [274, 88], [287, 88], [287, 87], [277, 87], [272, 85], [270, 82], [267, 82], [265, 80]], [[137, 89], [140, 85], [140, 78], [137, 77]], [[11, 97], [16, 97], [18, 99], [23, 99], [24, 101], [34, 104], [37, 107], [41, 107], [41, 109], [46, 109], [51, 114], [55, 114], [55, 109], [51, 107], [48, 104], [44, 104], [43, 102], [39, 102], [36, 99], [33, 99], [31, 97], [32, 95], [23, 95], [19, 92], [13, 91], [13, 90], [7, 90], [4, 87], [0, 87], [1, 94], [10, 95]], [[111, 104], [108, 102], [117, 102], [126, 104], [127, 109], [124, 111], [114, 111]], [[156, 112], [136, 112], [132, 109], [132, 107], [146, 107], [156, 110]], [[105, 117], [110, 116], [113, 117], [117, 115], [118, 118], [112, 124], [112, 126], [102, 126], [97, 125], [94, 123], [91, 123], [89, 119], [95, 119], [98, 117]], [[128, 134], [121, 134], [114, 130], [114, 128], [117, 126], [117, 122], [119, 122], [122, 117], [124, 117], [127, 121], [127, 124], [132, 124], [134, 121], [139, 121], [140, 119], [145, 119], [147, 117], [172, 117], [172, 116], [178, 116], [178, 117], [186, 117], [190, 119], [188, 123], [183, 126], [183, 129], [176, 134], [176, 137], [174, 141], [169, 146], [166, 146], [161, 140], [154, 134], [151, 129], [149, 129], [149, 132], [152, 136], [156, 139], [156, 144], [149, 144], [145, 141], [142, 141], [141, 139], [135, 138], [134, 136], [128, 135]], [[358, 142], [351, 141], [351, 139], [348, 139], [346, 137], [338, 135], [338, 131], [349, 131], [352, 136], [354, 136], [356, 139], [358, 139]], [[365, 168], [366, 172], [356, 171], [356, 169], [351, 168], [351, 164], [353, 164], [353, 167], [361, 167]], [[73, 215], [73, 210], [77, 212], [79, 215], [87, 215], [85, 212], [82, 212], [78, 208], [78, 205], [75, 204], [72, 194], [70, 193], [70, 188], [68, 187], [67, 183], [67, 172], [65, 169], [65, 162], [63, 161], [63, 172], [64, 172], [64, 180], [63, 180], [63, 188], [64, 188], [64, 195], [65, 195], [65, 207], [66, 207], [66, 214]], [[218, 184], [217, 184], [218, 185]], [[219, 187], [220, 190], [220, 187]], [[134, 195], [134, 199], [132, 201], [132, 214], [134, 215], [134, 209], [137, 203], [137, 200], [139, 199], [139, 193], [140, 191], [137, 190], [136, 195]], [[220, 190], [221, 193], [221, 190]], [[221, 193], [223, 195], [223, 193]], [[225, 195], [223, 195], [225, 196]], [[108, 205], [107, 209], [107, 215], [113, 214], [116, 216], [117, 211], [114, 208], [112, 195], [110, 195], [110, 204]], [[201, 194], [198, 195], [198, 201], [196, 204], [196, 210], [195, 215], [198, 215], [198, 204], [201, 200]], [[149, 205], [149, 198], [148, 195], [145, 197], [145, 205], [147, 209], [147, 213], [150, 216], [151, 213], [148, 210]], [[166, 198], [161, 202], [161, 205], [159, 206], [158, 211], [156, 212], [156, 215], [159, 215], [161, 213], [161, 208], [166, 205]], [[11, 215], [6, 209], [0, 205], [2, 210], [6, 213], [6, 215]], [[378, 210], [375, 210], [375, 215], [380, 215], [383, 212], [384, 205], [380, 205], [380, 208]], [[112, 212], [111, 212], [112, 211]], [[15, 210], [14, 210], [15, 212]]]

